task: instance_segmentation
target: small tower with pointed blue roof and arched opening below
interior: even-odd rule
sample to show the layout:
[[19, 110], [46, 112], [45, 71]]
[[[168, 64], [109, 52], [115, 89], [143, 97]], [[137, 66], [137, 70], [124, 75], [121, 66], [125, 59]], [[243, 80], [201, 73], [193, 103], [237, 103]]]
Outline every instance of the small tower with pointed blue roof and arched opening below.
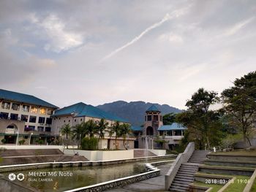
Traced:
[[143, 136], [157, 137], [158, 128], [162, 125], [162, 114], [153, 104], [146, 110]]

